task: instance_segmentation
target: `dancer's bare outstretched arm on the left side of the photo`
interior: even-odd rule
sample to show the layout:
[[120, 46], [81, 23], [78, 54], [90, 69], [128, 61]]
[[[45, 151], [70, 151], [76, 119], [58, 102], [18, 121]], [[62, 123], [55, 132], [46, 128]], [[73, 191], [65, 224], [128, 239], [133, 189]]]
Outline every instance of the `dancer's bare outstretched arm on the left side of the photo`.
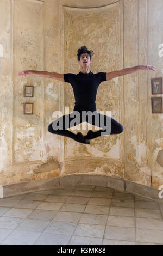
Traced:
[[26, 75], [48, 77], [48, 78], [52, 78], [52, 79], [64, 82], [64, 75], [55, 73], [55, 72], [24, 70], [18, 73], [18, 76], [26, 76]]

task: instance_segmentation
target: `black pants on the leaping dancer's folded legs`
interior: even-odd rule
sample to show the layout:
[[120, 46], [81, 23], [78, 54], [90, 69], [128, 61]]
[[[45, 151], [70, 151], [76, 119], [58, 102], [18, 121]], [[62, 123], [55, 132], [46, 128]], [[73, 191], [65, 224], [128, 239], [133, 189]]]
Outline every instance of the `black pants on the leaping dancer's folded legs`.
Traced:
[[88, 139], [123, 132], [123, 126], [108, 115], [99, 114], [97, 111], [94, 111], [93, 113], [87, 112], [88, 114], [84, 116], [82, 115], [82, 111], [78, 112], [79, 114], [76, 113], [76, 111], [73, 111], [70, 114], [62, 115], [62, 117], [54, 120], [49, 124], [48, 131], [57, 135], [75, 139], [77, 135], [67, 129], [86, 121], [87, 123], [102, 128], [102, 130], [93, 132]]

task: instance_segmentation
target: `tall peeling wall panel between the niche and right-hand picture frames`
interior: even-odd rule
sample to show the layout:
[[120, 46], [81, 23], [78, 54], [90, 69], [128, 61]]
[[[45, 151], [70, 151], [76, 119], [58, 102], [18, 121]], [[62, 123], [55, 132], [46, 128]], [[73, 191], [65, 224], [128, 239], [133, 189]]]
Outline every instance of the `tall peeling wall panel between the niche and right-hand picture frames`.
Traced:
[[[124, 1], [124, 68], [147, 64], [148, 1]], [[133, 19], [134, 17], [134, 19]], [[148, 63], [148, 65], [150, 65]], [[154, 64], [151, 64], [154, 65]], [[127, 180], [151, 186], [148, 164], [147, 71], [124, 76], [125, 176]], [[150, 109], [151, 111], [151, 109]]]

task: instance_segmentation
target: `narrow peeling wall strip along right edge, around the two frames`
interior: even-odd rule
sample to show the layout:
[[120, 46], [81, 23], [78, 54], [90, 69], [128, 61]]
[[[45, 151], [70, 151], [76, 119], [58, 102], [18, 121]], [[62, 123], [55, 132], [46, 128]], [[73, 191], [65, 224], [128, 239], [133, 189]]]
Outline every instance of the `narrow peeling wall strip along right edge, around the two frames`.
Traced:
[[[155, 76], [148, 75], [148, 84], [151, 78], [163, 77], [163, 57], [159, 56], [159, 45], [163, 44], [163, 2], [157, 0], [149, 0], [148, 4], [148, 63], [154, 63], [157, 66]], [[150, 64], [149, 64], [150, 65]], [[148, 106], [151, 104], [151, 88], [148, 91]], [[162, 95], [153, 95], [160, 97]], [[148, 157], [149, 166], [152, 172], [152, 186], [155, 188], [163, 184], [163, 167], [162, 167], [162, 149], [163, 149], [163, 114], [151, 114], [150, 108], [148, 109]]]

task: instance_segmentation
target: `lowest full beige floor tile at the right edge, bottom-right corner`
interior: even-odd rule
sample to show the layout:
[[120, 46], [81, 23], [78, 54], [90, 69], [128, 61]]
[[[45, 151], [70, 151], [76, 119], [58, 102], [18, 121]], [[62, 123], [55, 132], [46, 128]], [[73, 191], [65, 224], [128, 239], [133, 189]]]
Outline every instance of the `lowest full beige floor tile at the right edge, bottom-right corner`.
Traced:
[[163, 244], [163, 231], [136, 228], [136, 241]]

